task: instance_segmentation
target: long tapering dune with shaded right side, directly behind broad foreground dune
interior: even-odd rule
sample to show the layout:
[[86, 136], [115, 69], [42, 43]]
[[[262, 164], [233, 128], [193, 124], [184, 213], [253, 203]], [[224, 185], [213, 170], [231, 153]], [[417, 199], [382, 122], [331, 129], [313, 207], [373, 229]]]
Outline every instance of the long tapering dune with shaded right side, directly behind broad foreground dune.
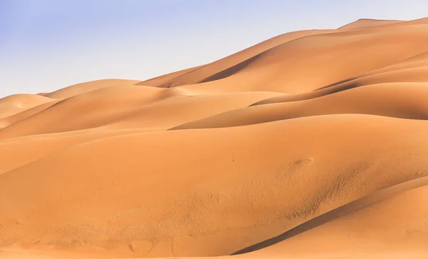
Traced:
[[[428, 83], [382, 83], [313, 99], [240, 108], [191, 121], [171, 130], [225, 128], [328, 114], [369, 114], [426, 120]], [[364, 101], [362, 101], [364, 100]]]

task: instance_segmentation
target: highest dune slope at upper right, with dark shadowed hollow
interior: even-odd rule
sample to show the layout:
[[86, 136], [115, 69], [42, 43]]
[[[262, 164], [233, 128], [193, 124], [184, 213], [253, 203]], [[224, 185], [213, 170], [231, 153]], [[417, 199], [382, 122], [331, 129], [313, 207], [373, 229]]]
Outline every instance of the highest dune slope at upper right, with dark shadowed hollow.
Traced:
[[218, 88], [283, 93], [311, 91], [427, 52], [424, 44], [428, 40], [427, 28], [428, 21], [403, 22], [387, 29], [381, 26], [285, 34], [158, 86], [190, 84], [183, 87], [193, 88], [194, 83], [202, 83], [197, 87], [204, 87], [204, 83], [221, 81], [205, 87], [214, 88], [213, 91]]

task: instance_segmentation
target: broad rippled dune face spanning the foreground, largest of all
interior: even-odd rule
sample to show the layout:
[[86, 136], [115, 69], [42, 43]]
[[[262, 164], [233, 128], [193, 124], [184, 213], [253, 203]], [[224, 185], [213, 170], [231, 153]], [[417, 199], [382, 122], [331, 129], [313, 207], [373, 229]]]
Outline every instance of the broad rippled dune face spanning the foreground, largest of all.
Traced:
[[0, 205], [14, 206], [0, 213], [2, 242], [227, 255], [428, 172], [423, 121], [317, 116], [247, 127], [101, 138], [3, 173]]

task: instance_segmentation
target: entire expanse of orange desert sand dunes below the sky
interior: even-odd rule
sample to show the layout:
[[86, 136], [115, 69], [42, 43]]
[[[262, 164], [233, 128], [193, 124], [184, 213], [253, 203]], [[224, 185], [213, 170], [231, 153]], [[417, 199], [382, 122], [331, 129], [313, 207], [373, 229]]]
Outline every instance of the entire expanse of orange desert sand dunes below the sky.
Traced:
[[361, 19], [1, 98], [0, 258], [428, 258], [427, 43]]

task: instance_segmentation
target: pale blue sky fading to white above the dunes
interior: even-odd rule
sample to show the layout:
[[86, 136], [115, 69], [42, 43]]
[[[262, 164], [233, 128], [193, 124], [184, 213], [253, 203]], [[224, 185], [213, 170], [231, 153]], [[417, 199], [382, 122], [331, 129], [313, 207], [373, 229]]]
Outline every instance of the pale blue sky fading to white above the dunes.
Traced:
[[0, 0], [0, 98], [143, 81], [289, 31], [427, 10], [427, 0]]

